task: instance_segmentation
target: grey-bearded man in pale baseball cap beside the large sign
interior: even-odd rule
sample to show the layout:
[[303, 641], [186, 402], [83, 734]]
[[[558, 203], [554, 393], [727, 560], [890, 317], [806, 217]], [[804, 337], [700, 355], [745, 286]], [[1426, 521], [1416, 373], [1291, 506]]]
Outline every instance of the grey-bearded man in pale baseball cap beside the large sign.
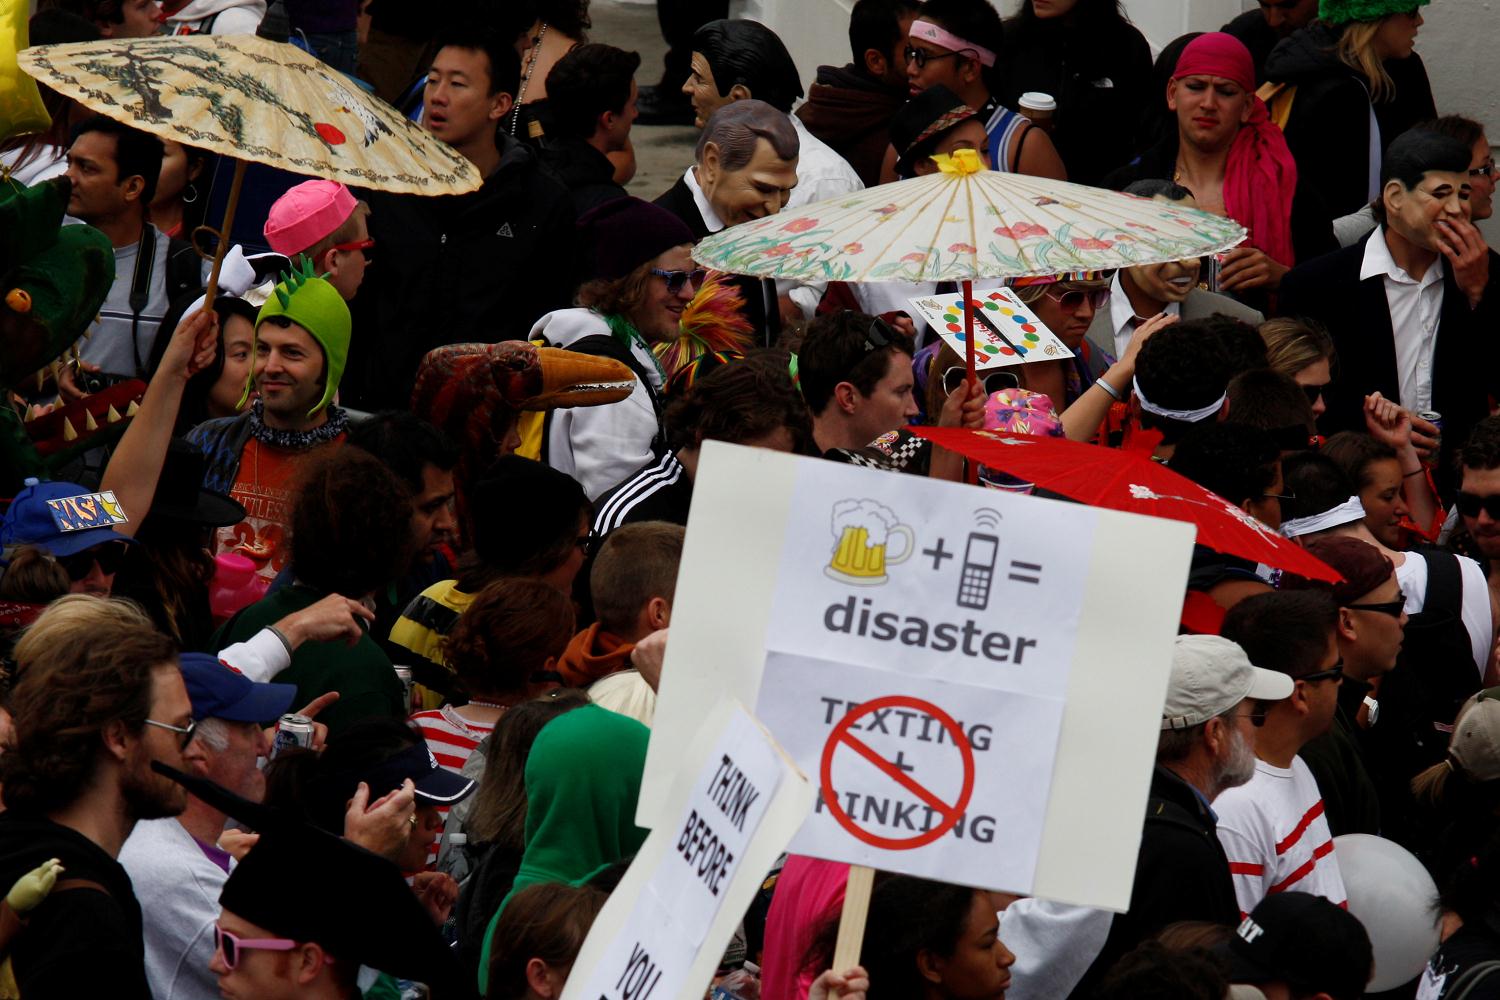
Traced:
[[1120, 955], [1168, 924], [1239, 924], [1209, 804], [1254, 775], [1260, 706], [1280, 705], [1293, 687], [1227, 639], [1178, 636], [1130, 910], [1012, 903], [1000, 915], [1000, 937], [1017, 955], [1006, 997], [1089, 997]]

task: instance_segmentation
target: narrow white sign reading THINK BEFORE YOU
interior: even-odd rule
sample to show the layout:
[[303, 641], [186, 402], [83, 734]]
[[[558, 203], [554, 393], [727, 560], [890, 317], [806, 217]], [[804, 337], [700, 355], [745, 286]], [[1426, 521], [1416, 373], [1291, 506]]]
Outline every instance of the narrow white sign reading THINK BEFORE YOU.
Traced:
[[562, 1000], [700, 1000], [812, 810], [807, 778], [738, 702], [700, 714], [674, 760], [674, 819], [651, 831], [609, 895]]

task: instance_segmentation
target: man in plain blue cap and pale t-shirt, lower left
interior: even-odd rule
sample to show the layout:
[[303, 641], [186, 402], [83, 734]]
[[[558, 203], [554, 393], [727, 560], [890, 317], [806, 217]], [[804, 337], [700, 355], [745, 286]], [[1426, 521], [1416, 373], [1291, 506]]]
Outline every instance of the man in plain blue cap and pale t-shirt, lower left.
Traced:
[[[260, 802], [266, 775], [256, 757], [272, 753], [261, 726], [291, 711], [297, 688], [256, 684], [204, 652], [184, 652], [182, 675], [198, 723], [183, 753], [188, 769]], [[147, 979], [158, 1000], [198, 1000], [218, 991], [208, 963], [219, 892], [234, 864], [230, 838], [220, 844], [226, 819], [218, 805], [189, 796], [182, 816], [136, 823], [120, 850], [142, 904]]]

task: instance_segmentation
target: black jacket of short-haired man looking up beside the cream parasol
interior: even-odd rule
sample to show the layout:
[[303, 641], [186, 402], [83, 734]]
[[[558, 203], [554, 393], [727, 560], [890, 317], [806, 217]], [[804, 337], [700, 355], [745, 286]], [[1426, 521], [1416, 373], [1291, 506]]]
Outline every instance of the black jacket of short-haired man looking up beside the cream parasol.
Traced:
[[362, 193], [376, 256], [352, 303], [346, 405], [405, 409], [432, 348], [524, 340], [570, 304], [573, 201], [528, 147], [500, 136], [500, 168], [466, 195]]

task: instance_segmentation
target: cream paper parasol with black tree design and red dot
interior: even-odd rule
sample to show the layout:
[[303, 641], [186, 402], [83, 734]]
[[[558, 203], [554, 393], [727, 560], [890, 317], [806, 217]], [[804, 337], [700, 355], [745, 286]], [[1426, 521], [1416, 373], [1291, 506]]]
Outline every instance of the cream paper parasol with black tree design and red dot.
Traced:
[[232, 157], [224, 232], [246, 162], [418, 195], [483, 184], [458, 150], [294, 45], [254, 34], [112, 39], [38, 45], [18, 61], [92, 111]]

